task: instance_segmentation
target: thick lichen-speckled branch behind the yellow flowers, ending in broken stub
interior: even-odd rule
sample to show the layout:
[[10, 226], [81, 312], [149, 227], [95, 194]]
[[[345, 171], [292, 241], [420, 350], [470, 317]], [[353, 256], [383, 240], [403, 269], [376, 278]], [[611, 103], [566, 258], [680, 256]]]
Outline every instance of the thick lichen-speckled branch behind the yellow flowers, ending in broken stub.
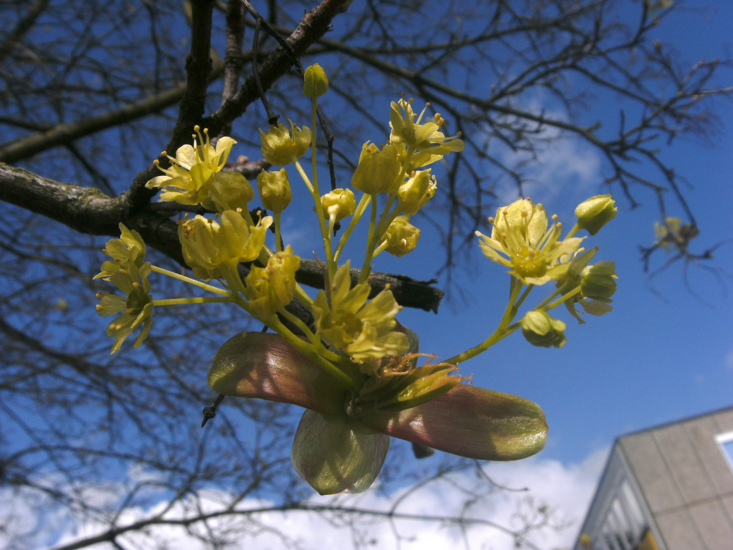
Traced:
[[[150, 208], [133, 210], [125, 195], [111, 198], [95, 187], [81, 187], [48, 180], [27, 170], [0, 163], [0, 200], [60, 221], [88, 235], [119, 235], [119, 223], [140, 232], [145, 242], [185, 265], [178, 241], [177, 224]], [[352, 270], [352, 279], [358, 279]], [[246, 274], [246, 273], [245, 273]], [[296, 279], [303, 285], [323, 288], [323, 271], [312, 260], [302, 260]], [[390, 285], [402, 306], [438, 311], [443, 291], [432, 281], [404, 275], [373, 273], [372, 296]]]

